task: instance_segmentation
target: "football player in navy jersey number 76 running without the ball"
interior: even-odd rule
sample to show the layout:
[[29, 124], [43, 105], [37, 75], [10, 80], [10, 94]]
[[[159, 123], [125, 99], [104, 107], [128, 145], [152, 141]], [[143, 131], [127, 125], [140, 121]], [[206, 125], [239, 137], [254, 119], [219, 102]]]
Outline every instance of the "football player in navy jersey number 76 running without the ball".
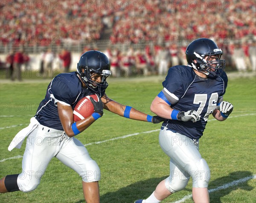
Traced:
[[169, 69], [151, 111], [167, 119], [161, 127], [159, 143], [170, 157], [170, 176], [147, 199], [135, 203], [159, 203], [183, 190], [190, 177], [194, 202], [209, 203], [210, 169], [198, 150], [198, 140], [210, 114], [224, 121], [233, 110], [233, 105], [223, 100], [227, 75], [222, 54], [212, 40], [196, 39], [186, 48], [188, 65]]

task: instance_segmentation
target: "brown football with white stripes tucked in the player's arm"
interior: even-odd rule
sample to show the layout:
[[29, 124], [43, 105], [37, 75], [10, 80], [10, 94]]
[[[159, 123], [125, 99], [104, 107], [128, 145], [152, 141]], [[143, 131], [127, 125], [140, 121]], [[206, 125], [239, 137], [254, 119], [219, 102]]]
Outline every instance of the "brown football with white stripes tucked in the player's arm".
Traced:
[[87, 118], [94, 113], [94, 107], [93, 103], [90, 101], [90, 97], [92, 97], [95, 101], [99, 101], [96, 94], [85, 96], [84, 98], [80, 99], [73, 111], [75, 122]]

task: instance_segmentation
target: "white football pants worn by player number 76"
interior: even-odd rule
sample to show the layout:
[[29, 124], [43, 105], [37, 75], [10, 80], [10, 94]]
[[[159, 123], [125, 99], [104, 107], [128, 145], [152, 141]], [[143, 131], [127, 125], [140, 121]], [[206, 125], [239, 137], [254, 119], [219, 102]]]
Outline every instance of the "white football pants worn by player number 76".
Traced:
[[170, 192], [183, 190], [191, 177], [193, 187], [207, 188], [210, 169], [201, 157], [198, 144], [185, 135], [174, 133], [164, 127], [160, 130], [159, 143], [170, 159], [170, 176], [165, 185]]

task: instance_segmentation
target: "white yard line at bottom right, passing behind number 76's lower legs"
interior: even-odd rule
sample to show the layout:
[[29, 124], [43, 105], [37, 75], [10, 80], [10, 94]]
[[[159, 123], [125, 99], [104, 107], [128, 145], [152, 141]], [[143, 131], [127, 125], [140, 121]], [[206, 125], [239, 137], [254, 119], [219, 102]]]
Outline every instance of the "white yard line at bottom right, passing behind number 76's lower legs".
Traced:
[[[214, 188], [214, 189], [209, 189], [209, 193], [216, 192], [216, 191], [219, 191], [219, 190], [221, 190], [221, 189], [227, 189], [227, 188], [229, 188], [229, 187], [236, 186], [236, 185], [238, 185], [238, 184], [240, 184], [240, 183], [244, 183], [244, 182], [246, 182], [247, 180], [251, 180], [251, 179], [256, 179], [256, 174], [254, 174], [254, 175], [252, 175], [252, 176], [247, 176], [247, 177], [245, 177], [245, 178], [241, 178], [241, 179], [239, 179], [239, 180], [234, 180], [234, 181], [232, 181], [232, 182], [230, 182], [230, 183], [224, 184], [224, 185], [222, 185], [222, 186], [218, 186], [218, 187], [216, 187], [216, 188]], [[192, 195], [186, 195], [186, 196], [183, 197], [182, 199], [177, 200], [176, 202], [173, 202], [173, 203], [183, 203], [183, 202], [185, 202], [186, 200], [188, 200], [188, 199], [190, 199], [190, 198], [192, 198]]]

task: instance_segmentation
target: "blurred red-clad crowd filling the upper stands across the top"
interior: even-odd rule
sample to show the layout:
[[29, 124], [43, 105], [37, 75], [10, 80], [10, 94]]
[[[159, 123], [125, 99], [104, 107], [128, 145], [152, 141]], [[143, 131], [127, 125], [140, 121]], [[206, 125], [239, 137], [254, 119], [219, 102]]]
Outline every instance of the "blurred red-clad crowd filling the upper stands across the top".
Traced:
[[[0, 35], [33, 45], [80, 43], [100, 39], [111, 29], [111, 42], [163, 41], [211, 36], [256, 36], [254, 0], [6, 0], [1, 3]], [[125, 37], [124, 37], [125, 36]]]

